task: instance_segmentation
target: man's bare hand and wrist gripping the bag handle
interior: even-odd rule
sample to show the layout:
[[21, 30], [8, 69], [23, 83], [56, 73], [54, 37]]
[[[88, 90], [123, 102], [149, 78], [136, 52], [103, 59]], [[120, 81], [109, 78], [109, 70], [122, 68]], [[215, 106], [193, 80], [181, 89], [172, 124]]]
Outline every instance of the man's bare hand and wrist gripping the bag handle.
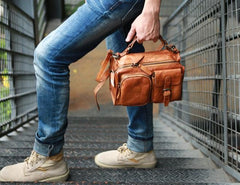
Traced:
[[160, 34], [160, 0], [146, 0], [142, 13], [133, 21], [126, 42], [137, 36], [137, 42], [153, 40], [156, 42]]

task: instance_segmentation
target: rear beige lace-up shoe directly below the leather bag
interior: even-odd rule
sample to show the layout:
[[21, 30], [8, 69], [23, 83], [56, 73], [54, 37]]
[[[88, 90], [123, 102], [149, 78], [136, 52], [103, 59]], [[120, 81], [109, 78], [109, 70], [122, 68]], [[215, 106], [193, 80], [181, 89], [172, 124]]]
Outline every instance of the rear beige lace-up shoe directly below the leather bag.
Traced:
[[96, 155], [95, 163], [103, 168], [154, 168], [157, 160], [153, 151], [137, 153], [128, 149], [125, 143], [117, 150]]

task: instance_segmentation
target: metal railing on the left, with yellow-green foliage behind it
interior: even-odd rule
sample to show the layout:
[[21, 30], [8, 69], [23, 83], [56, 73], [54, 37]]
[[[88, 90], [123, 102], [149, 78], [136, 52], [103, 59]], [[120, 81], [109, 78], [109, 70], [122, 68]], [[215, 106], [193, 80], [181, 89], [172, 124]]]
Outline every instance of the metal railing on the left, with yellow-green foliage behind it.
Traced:
[[33, 19], [0, 1], [0, 137], [37, 116]]

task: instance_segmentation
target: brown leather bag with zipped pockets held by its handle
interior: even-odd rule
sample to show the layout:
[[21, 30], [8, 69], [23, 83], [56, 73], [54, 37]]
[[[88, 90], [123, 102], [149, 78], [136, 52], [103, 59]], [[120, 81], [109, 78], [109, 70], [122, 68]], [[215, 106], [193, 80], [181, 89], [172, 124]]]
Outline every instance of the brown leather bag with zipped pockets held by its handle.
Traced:
[[184, 66], [174, 45], [159, 36], [160, 47], [156, 51], [129, 53], [136, 38], [122, 53], [108, 51], [101, 63], [94, 89], [97, 93], [109, 78], [109, 87], [114, 105], [140, 106], [149, 102], [164, 103], [181, 100]]

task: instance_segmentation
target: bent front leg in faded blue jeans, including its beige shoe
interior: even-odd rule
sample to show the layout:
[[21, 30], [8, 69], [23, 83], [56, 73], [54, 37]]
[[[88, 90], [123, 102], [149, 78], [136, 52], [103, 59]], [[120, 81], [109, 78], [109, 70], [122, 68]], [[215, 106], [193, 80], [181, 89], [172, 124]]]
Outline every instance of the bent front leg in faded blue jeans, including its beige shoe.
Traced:
[[25, 162], [0, 171], [0, 181], [62, 181], [69, 101], [68, 66], [107, 35], [141, 13], [144, 0], [88, 0], [36, 48], [39, 125], [34, 151]]

